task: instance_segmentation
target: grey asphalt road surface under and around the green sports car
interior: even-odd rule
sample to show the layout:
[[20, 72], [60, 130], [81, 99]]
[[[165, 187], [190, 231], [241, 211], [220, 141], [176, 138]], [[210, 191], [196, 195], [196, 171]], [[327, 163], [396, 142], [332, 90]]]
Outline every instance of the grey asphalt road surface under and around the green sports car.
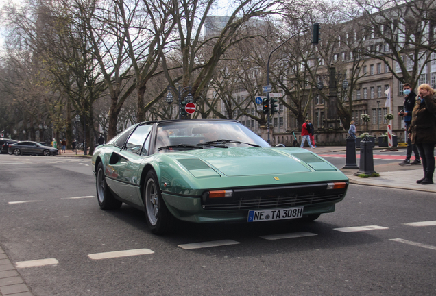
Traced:
[[[14, 264], [58, 260], [18, 268], [36, 296], [435, 295], [436, 225], [407, 225], [436, 220], [431, 193], [350, 185], [313, 223], [180, 223], [155, 236], [143, 212], [99, 209], [88, 159], [0, 155], [0, 171], [0, 246]], [[261, 237], [274, 234], [298, 235]], [[233, 245], [180, 247], [217, 240]], [[133, 249], [151, 254], [89, 256]]]

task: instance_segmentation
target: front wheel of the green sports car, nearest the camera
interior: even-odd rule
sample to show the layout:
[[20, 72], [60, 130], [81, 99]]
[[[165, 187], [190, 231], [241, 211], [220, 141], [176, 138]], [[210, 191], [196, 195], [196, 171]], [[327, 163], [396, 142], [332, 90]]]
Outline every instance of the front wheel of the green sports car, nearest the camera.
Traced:
[[152, 233], [165, 234], [173, 229], [175, 218], [165, 205], [158, 184], [156, 173], [149, 171], [144, 186], [145, 217]]

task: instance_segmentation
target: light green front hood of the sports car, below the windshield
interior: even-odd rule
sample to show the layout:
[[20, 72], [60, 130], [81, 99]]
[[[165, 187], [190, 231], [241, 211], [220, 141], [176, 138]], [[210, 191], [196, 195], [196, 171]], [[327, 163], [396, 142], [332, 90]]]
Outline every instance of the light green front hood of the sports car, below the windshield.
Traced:
[[186, 154], [199, 158], [229, 177], [337, 171], [332, 164], [315, 153], [300, 148], [232, 147], [199, 149]]

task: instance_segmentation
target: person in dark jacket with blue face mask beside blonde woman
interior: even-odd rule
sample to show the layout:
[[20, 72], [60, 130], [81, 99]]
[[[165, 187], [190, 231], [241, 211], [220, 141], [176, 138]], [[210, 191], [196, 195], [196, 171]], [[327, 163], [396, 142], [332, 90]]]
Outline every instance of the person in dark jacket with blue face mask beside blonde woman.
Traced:
[[[399, 112], [398, 115], [404, 117], [404, 124], [406, 125], [406, 130], [409, 130], [410, 123], [412, 120], [412, 111], [413, 107], [415, 107], [416, 103], [416, 94], [413, 93], [412, 87], [410, 84], [404, 84], [403, 93], [406, 95], [404, 97], [404, 105], [402, 112]], [[410, 162], [410, 158], [412, 156], [412, 151], [415, 153], [415, 160]], [[407, 152], [406, 159], [403, 162], [399, 163], [400, 165], [410, 165], [410, 164], [421, 164], [420, 160], [420, 151], [418, 151], [417, 147], [411, 143], [410, 138], [407, 138]]]

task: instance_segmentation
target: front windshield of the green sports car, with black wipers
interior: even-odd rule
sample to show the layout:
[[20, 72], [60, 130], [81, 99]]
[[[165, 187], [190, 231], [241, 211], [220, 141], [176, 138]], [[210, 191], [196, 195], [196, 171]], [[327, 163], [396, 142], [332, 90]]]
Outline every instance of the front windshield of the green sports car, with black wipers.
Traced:
[[216, 147], [271, 147], [265, 140], [233, 121], [159, 123], [156, 152]]

